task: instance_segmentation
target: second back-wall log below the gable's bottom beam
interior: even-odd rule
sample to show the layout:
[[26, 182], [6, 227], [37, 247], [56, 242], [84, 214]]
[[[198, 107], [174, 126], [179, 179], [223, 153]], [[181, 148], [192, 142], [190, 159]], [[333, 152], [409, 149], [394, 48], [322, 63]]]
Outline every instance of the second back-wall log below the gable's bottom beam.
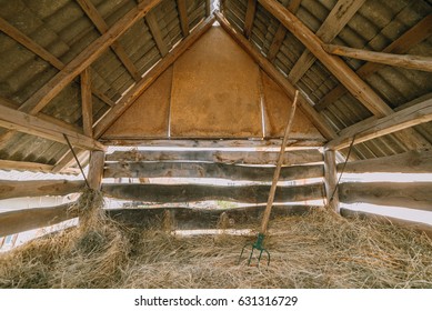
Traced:
[[[274, 168], [193, 162], [115, 162], [107, 163], [104, 178], [218, 178], [229, 180], [271, 181]], [[295, 165], [281, 169], [281, 181], [320, 178], [322, 165]]]

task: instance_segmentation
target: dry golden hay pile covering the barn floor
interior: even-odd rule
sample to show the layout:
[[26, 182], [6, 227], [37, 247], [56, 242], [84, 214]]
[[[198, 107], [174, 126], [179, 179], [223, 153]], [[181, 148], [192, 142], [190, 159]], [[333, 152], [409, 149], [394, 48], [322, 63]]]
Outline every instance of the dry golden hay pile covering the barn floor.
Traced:
[[[81, 205], [98, 207], [101, 197], [91, 195]], [[431, 240], [390, 224], [325, 211], [280, 218], [264, 241], [271, 264], [257, 269], [237, 264], [254, 238], [179, 238], [121, 228], [94, 209], [84, 214], [78, 229], [0, 258], [0, 287], [432, 288]]]

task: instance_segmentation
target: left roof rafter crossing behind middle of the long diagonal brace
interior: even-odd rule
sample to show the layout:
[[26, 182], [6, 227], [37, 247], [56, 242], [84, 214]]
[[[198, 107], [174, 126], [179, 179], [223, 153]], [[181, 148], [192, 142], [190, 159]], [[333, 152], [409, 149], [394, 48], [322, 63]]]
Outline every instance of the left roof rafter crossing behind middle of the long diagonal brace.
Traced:
[[[81, 9], [86, 12], [89, 19], [93, 22], [96, 28], [101, 34], [106, 33], [109, 30], [107, 22], [103, 20], [102, 16], [99, 13], [98, 9], [90, 0], [77, 0]], [[119, 60], [123, 63], [124, 68], [129, 71], [132, 78], [138, 81], [141, 79], [140, 73], [138, 72], [137, 67], [133, 64], [128, 53], [120, 44], [119, 41], [113, 41], [111, 49], [114, 51]]]

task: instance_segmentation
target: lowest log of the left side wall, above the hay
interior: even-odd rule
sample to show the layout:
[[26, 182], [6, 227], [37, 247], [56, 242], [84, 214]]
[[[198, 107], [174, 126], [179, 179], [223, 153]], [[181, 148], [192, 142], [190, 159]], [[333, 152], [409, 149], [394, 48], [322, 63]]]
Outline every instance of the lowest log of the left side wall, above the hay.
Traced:
[[0, 237], [53, 225], [77, 217], [68, 209], [71, 204], [51, 208], [24, 209], [0, 213]]

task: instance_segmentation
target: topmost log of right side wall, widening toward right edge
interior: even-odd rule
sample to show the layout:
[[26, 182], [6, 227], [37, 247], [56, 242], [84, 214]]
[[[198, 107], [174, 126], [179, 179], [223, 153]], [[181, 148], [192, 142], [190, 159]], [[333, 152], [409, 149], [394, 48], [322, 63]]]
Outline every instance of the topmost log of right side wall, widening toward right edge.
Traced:
[[[342, 170], [343, 163], [338, 164]], [[432, 151], [409, 151], [385, 158], [348, 162], [346, 173], [432, 173]]]

